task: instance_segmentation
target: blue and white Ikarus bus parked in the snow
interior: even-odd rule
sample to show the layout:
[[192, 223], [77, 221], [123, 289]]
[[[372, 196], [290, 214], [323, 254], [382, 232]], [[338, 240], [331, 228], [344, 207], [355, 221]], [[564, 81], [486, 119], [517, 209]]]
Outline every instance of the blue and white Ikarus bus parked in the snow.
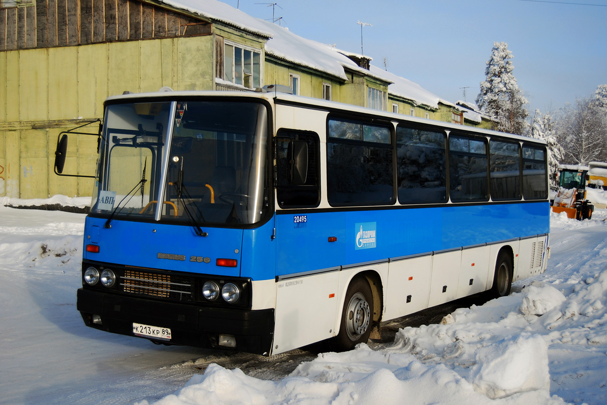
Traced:
[[90, 327], [351, 349], [381, 322], [546, 269], [541, 141], [268, 92], [104, 108], [78, 290]]

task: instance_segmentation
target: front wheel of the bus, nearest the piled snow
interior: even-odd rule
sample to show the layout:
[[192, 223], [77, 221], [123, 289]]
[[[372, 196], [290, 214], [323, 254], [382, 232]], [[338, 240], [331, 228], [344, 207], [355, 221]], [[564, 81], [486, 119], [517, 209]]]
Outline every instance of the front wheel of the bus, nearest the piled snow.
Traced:
[[364, 277], [355, 277], [348, 285], [342, 310], [339, 333], [334, 337], [337, 350], [352, 350], [366, 343], [373, 321], [373, 294]]

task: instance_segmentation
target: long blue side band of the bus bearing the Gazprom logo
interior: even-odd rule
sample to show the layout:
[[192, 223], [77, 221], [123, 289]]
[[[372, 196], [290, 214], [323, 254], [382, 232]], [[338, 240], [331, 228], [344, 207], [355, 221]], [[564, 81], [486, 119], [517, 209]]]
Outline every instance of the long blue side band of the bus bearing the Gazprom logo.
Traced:
[[276, 216], [276, 275], [545, 234], [549, 209], [548, 202], [537, 202], [281, 213]]

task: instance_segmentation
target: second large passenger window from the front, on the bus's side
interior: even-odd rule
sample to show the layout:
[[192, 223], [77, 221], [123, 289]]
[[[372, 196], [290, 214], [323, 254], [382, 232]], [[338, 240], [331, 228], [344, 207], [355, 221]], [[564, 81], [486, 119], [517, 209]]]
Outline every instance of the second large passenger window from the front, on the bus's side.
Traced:
[[396, 127], [398, 202], [444, 203], [447, 200], [445, 134], [438, 129]]

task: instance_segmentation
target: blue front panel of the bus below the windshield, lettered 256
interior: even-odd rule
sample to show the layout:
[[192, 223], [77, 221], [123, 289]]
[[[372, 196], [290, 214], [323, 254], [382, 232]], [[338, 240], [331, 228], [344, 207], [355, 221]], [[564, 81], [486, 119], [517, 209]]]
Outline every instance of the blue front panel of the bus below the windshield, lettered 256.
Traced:
[[[240, 276], [242, 229], [205, 228], [208, 236], [203, 237], [195, 234], [194, 229], [187, 225], [115, 219], [111, 228], [105, 228], [105, 223], [106, 219], [87, 217], [84, 259], [153, 269]], [[267, 236], [269, 241], [271, 231], [267, 232], [270, 232]], [[99, 253], [87, 252], [86, 245], [89, 243], [98, 245]], [[217, 266], [217, 259], [236, 259], [238, 265], [220, 267]], [[272, 259], [274, 261], [274, 257]], [[274, 273], [273, 268], [270, 271]]]

